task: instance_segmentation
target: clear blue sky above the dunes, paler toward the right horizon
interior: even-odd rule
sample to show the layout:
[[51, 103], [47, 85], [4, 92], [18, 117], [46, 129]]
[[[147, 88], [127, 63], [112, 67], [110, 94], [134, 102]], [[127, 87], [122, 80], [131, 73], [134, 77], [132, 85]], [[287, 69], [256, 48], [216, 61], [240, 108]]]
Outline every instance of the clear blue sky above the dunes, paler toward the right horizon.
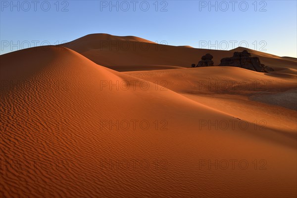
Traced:
[[1, 54], [87, 34], [297, 57], [297, 0], [0, 0]]

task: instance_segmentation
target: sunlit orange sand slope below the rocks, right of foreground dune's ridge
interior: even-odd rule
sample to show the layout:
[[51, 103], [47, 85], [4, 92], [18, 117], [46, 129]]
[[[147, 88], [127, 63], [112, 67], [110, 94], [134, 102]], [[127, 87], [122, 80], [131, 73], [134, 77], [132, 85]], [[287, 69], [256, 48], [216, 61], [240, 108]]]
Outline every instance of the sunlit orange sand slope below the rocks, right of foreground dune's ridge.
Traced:
[[[259, 124], [263, 120], [266, 127], [296, 140], [296, 75], [279, 78], [236, 67], [125, 73], [150, 82], [159, 82], [190, 99], [251, 123]], [[264, 137], [270, 139], [272, 136], [266, 134]]]

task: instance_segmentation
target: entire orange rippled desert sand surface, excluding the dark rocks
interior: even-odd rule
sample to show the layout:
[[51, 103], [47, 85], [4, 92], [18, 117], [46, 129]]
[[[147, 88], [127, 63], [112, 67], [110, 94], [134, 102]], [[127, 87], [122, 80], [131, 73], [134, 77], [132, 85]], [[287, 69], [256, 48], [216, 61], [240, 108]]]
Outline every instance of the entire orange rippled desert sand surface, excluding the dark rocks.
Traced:
[[95, 34], [1, 55], [0, 197], [295, 198], [297, 61], [188, 68], [236, 50]]

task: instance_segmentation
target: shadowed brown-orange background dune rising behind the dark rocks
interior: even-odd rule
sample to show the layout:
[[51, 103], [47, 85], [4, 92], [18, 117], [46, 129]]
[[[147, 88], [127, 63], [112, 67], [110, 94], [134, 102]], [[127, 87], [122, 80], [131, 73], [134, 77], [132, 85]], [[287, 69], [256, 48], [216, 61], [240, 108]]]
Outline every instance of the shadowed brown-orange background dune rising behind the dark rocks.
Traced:
[[[168, 43], [169, 41], [167, 41]], [[166, 43], [166, 42], [163, 42]], [[191, 67], [197, 64], [202, 55], [211, 53], [214, 64], [220, 64], [224, 57], [231, 57], [234, 51], [242, 51], [246, 48], [233, 50], [195, 49], [188, 46], [159, 45], [138, 37], [118, 37], [107, 34], [92, 34], [79, 38], [62, 46], [73, 49], [99, 65], [115, 69], [117, 71], [172, 69], [172, 66]], [[262, 51], [247, 49], [252, 55], [258, 56], [261, 63], [282, 70], [282, 73], [296, 73], [296, 59], [288, 59]], [[158, 67], [162, 65], [162, 67]]]

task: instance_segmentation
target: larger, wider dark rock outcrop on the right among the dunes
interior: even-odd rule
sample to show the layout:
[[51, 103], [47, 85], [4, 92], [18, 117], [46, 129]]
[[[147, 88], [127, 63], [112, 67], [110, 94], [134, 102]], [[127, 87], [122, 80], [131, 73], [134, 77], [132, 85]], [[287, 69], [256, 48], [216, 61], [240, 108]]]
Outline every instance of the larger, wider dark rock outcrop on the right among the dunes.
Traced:
[[271, 67], [261, 64], [258, 57], [251, 57], [247, 50], [242, 52], [236, 51], [234, 52], [233, 57], [221, 59], [220, 66], [242, 67], [257, 72], [274, 71]]

